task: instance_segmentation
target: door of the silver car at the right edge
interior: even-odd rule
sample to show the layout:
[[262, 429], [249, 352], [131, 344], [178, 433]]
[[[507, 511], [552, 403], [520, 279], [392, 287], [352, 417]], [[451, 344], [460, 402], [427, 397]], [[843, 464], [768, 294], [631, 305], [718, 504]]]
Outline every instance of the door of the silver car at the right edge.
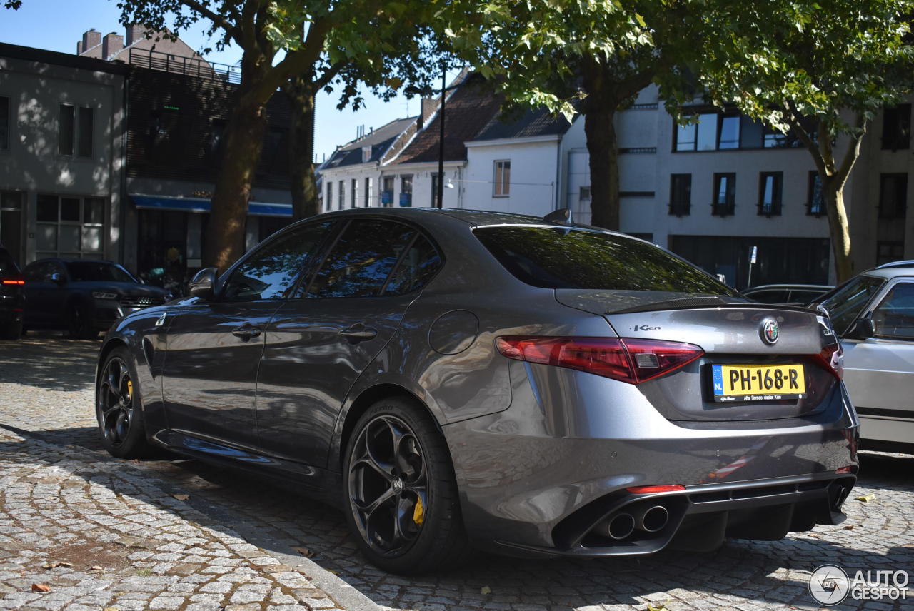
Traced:
[[914, 441], [914, 279], [890, 282], [869, 315], [872, 337], [845, 339], [845, 384], [866, 439]]

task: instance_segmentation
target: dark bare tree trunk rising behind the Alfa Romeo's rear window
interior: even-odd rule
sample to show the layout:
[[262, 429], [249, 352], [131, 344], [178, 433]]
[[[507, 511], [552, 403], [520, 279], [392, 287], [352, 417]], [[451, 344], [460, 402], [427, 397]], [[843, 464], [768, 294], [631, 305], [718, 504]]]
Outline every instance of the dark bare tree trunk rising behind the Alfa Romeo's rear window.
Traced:
[[615, 107], [590, 107], [584, 133], [590, 156], [590, 225], [619, 229], [619, 150], [613, 122]]

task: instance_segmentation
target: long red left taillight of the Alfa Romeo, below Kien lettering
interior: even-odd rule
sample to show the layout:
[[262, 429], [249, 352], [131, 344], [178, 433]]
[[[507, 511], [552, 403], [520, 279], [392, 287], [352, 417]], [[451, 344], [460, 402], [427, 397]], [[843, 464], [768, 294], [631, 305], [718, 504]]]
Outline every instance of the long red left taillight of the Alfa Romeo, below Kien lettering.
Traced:
[[509, 359], [566, 367], [639, 384], [669, 374], [705, 352], [696, 345], [604, 337], [499, 337]]

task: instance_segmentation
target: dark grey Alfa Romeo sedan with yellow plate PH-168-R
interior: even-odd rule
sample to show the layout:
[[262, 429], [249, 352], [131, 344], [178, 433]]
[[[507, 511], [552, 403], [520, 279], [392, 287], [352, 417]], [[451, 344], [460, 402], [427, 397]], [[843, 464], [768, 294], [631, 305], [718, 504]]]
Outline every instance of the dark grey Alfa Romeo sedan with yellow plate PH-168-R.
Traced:
[[857, 418], [818, 311], [567, 214], [346, 210], [105, 338], [113, 455], [339, 505], [367, 559], [711, 549], [844, 520]]

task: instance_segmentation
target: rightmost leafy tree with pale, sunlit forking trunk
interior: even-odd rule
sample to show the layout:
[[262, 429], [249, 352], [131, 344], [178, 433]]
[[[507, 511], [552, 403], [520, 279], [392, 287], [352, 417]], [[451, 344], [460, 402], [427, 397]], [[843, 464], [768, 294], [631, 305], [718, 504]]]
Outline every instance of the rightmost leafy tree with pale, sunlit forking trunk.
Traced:
[[844, 187], [867, 121], [909, 92], [912, 7], [910, 0], [706, 5], [699, 79], [707, 97], [791, 133], [812, 154], [839, 281], [853, 274]]

